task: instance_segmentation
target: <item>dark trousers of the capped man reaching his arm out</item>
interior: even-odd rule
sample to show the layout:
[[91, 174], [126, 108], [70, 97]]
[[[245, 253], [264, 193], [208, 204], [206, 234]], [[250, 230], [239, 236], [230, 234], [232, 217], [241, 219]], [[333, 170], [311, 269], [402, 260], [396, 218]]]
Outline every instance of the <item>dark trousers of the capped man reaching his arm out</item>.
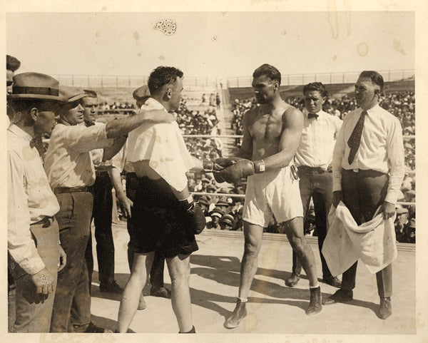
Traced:
[[60, 193], [56, 194], [56, 198], [60, 205], [56, 220], [61, 246], [67, 254], [67, 264], [58, 272], [51, 332], [69, 332], [70, 325], [85, 328], [91, 322], [85, 251], [93, 195], [90, 192]]

